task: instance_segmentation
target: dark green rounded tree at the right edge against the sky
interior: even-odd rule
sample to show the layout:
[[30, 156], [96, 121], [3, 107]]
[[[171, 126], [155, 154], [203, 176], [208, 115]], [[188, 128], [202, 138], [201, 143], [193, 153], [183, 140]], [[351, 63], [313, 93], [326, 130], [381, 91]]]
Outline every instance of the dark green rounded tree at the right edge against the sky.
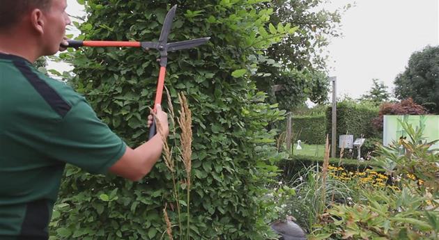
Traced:
[[410, 56], [404, 72], [394, 80], [398, 99], [413, 98], [431, 113], [439, 113], [439, 47], [425, 47]]

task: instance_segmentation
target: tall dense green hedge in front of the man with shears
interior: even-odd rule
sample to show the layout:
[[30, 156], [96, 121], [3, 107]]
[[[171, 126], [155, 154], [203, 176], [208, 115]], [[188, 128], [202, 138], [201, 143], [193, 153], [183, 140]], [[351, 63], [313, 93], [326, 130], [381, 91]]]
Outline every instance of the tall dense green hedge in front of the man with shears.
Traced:
[[[207, 45], [169, 53], [165, 80], [174, 106], [177, 93], [184, 92], [192, 109], [191, 201], [179, 200], [182, 208], [190, 204], [190, 239], [265, 239], [269, 231], [263, 186], [275, 175], [279, 154], [275, 131], [265, 127], [282, 113], [265, 104], [250, 75], [267, 61], [264, 49], [294, 29], [269, 26], [272, 10], [261, 2], [86, 2], [81, 30], [89, 40], [157, 40], [174, 4], [178, 10], [169, 42], [211, 37]], [[148, 135], [157, 57], [140, 49], [84, 48], [73, 60], [77, 76], [71, 84], [128, 145], [139, 145]], [[171, 143], [174, 138], [178, 143], [178, 134]], [[184, 195], [185, 183], [177, 184]], [[51, 224], [54, 239], [167, 239], [164, 205], [172, 224], [178, 223], [172, 189], [162, 162], [139, 183], [69, 167]], [[173, 230], [174, 239], [180, 239], [178, 228]]]

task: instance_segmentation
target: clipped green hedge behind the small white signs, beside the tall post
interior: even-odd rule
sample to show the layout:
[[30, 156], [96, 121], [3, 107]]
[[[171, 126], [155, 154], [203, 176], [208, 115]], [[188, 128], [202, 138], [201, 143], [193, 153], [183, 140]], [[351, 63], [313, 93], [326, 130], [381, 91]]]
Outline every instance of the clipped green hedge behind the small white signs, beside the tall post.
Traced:
[[[337, 148], [339, 146], [339, 135], [353, 134], [355, 138], [382, 138], [379, 131], [373, 127], [373, 119], [378, 117], [378, 108], [354, 104], [351, 102], [337, 103]], [[331, 134], [332, 106], [326, 111], [326, 132]]]

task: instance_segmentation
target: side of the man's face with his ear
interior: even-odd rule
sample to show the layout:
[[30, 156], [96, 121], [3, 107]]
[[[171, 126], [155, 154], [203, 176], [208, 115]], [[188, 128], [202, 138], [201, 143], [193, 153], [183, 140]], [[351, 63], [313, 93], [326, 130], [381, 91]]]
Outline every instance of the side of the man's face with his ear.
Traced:
[[66, 35], [66, 26], [70, 18], [66, 13], [66, 0], [52, 0], [44, 11], [45, 25], [43, 35], [44, 54], [52, 55], [59, 51], [59, 45]]

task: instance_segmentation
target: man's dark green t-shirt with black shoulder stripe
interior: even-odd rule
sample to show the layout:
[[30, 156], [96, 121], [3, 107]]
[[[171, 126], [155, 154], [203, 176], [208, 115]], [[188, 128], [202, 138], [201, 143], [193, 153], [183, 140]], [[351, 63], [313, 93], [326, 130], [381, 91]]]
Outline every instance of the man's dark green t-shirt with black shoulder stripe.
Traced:
[[107, 173], [125, 148], [82, 95], [0, 54], [0, 239], [47, 239], [66, 163]]

